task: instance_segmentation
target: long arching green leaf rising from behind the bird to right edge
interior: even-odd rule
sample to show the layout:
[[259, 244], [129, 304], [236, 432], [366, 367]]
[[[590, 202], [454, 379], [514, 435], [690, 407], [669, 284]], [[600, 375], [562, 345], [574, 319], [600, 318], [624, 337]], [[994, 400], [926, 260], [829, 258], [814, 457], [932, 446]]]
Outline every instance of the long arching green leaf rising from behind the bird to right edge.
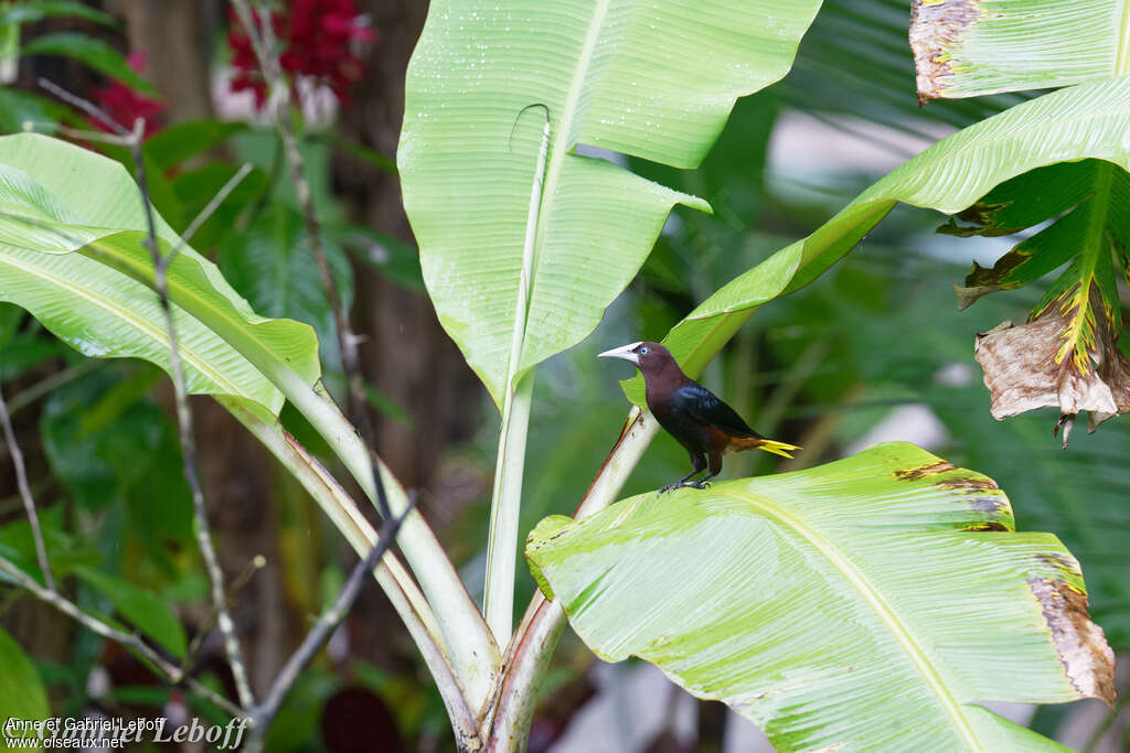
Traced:
[[[663, 343], [692, 376], [702, 371], [757, 308], [819, 277], [896, 203], [955, 213], [1036, 167], [1094, 157], [1125, 168], [1130, 77], [1044, 95], [963, 129], [907, 160], [807, 238], [731, 280], [679, 322]], [[643, 404], [643, 380], [625, 383]]]

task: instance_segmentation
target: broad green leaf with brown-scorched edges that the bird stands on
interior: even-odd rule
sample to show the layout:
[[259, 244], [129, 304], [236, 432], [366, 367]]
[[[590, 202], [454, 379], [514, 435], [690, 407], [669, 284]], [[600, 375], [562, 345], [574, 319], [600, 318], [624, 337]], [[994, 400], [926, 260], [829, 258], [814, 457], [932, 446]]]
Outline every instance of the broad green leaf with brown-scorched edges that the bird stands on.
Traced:
[[1061, 750], [975, 703], [1114, 698], [1075, 558], [913, 445], [550, 517], [527, 557], [599, 656], [657, 664], [777, 750]]

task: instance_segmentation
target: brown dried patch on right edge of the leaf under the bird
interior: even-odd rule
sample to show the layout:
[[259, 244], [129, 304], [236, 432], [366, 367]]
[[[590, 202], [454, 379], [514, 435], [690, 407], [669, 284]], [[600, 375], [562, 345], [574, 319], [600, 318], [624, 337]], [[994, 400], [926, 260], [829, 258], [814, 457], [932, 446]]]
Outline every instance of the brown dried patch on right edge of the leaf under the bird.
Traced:
[[1083, 698], [1097, 698], [1113, 706], [1118, 698], [1114, 651], [1103, 629], [1090, 621], [1087, 595], [1061, 580], [1029, 578], [1027, 584], [1040, 602], [1071, 686]]

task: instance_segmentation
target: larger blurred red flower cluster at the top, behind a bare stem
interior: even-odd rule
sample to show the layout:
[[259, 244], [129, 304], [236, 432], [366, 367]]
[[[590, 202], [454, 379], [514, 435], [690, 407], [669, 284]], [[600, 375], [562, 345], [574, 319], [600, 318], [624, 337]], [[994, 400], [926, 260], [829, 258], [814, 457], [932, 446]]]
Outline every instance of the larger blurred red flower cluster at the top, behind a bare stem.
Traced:
[[[299, 78], [327, 86], [342, 104], [349, 103], [349, 87], [362, 76], [356, 49], [376, 35], [362, 24], [356, 0], [288, 0], [289, 12], [273, 11], [271, 28], [279, 45], [279, 64], [290, 77], [290, 91]], [[255, 58], [251, 40], [238, 18], [228, 8], [232, 21], [227, 43], [232, 47], [233, 91], [251, 89], [255, 105], [267, 98], [267, 82]]]

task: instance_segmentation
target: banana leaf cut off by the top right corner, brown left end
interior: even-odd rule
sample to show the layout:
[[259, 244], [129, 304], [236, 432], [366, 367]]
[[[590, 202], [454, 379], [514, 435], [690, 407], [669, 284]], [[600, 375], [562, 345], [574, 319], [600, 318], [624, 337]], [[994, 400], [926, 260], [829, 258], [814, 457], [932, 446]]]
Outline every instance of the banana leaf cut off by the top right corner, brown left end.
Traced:
[[1127, 0], [914, 0], [919, 99], [1083, 84], [1130, 72]]

